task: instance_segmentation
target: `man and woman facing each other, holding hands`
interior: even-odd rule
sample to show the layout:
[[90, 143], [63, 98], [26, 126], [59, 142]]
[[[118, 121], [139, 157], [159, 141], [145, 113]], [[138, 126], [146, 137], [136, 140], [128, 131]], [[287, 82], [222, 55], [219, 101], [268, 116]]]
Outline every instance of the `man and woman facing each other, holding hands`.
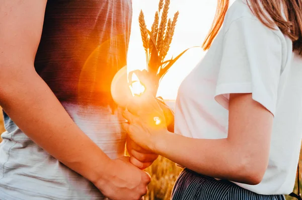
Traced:
[[218, 0], [175, 115], [147, 93], [113, 103], [131, 4], [0, 0], [0, 199], [141, 199], [158, 155], [184, 168], [172, 199], [285, 199], [302, 136], [302, 1]]

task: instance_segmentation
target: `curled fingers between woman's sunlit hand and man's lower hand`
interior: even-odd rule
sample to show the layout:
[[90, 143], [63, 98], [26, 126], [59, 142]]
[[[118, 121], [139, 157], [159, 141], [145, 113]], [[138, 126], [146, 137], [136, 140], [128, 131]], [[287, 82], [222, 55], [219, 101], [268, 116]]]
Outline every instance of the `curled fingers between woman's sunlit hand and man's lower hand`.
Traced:
[[159, 157], [159, 155], [149, 152], [127, 137], [127, 151], [130, 155], [130, 162], [139, 169], [145, 169]]

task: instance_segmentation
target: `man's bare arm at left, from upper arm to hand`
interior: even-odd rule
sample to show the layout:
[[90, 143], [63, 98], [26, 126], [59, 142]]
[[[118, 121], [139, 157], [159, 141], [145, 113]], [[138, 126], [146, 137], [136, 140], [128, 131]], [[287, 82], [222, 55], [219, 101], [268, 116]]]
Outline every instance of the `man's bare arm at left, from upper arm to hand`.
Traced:
[[[105, 195], [120, 199], [117, 195], [128, 192], [127, 199], [139, 199], [146, 192], [149, 177], [104, 154], [72, 121], [35, 71], [46, 3], [0, 0], [0, 106], [37, 145], [92, 181]], [[132, 174], [125, 174], [129, 170]], [[132, 182], [124, 186], [127, 181]], [[120, 194], [111, 191], [119, 189]]]

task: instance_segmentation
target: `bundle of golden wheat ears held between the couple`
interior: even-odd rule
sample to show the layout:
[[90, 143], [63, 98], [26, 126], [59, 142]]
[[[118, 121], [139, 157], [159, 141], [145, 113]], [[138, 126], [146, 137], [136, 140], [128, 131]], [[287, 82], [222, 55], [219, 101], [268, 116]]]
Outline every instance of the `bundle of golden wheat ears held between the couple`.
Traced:
[[154, 23], [149, 31], [147, 29], [144, 14], [140, 11], [139, 27], [142, 45], [146, 54], [146, 64], [149, 80], [152, 81], [153, 94], [156, 96], [158, 86], [162, 78], [171, 66], [188, 50], [184, 50], [175, 58], [165, 60], [174, 36], [174, 31], [179, 16], [177, 11], [173, 19], [168, 19], [170, 0], [160, 0], [159, 9], [155, 13]]

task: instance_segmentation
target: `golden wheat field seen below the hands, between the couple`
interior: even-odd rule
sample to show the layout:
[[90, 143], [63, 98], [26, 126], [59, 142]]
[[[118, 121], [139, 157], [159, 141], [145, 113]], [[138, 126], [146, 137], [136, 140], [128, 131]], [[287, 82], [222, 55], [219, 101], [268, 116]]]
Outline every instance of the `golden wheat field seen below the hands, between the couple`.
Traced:
[[[0, 107], [0, 111], [1, 111], [1, 107]], [[1, 132], [4, 132], [2, 114], [0, 114], [0, 133]], [[301, 159], [300, 159], [300, 166], [302, 166]], [[179, 173], [182, 171], [182, 169], [177, 167], [175, 163], [173, 163], [172, 161], [164, 157], [159, 157], [154, 162], [154, 164], [149, 168], [147, 168], [145, 171], [148, 172], [152, 177], [152, 181], [148, 186], [148, 193], [145, 196], [145, 200], [170, 199], [173, 185]], [[294, 189], [295, 192], [297, 192], [296, 185]], [[286, 200], [294, 200], [294, 198], [290, 196], [286, 196]]]

